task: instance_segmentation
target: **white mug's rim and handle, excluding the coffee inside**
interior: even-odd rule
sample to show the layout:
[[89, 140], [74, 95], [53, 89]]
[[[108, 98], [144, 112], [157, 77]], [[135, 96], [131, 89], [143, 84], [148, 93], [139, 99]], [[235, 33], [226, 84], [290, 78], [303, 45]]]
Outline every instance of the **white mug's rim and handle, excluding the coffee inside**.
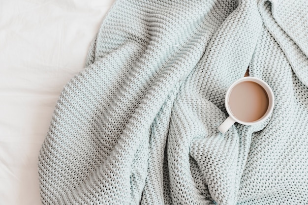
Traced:
[[[231, 110], [230, 105], [229, 105], [229, 99], [230, 99], [230, 94], [232, 93], [231, 92], [232, 89], [235, 88], [235, 86], [237, 86], [238, 84], [245, 82], [245, 81], [257, 83], [258, 86], [263, 88], [263, 90], [265, 91], [265, 93], [267, 95], [268, 108], [267, 108], [265, 114], [255, 121], [243, 121], [243, 120], [237, 118], [236, 116], [233, 115], [232, 110]], [[220, 124], [220, 126], [218, 127], [218, 130], [221, 133], [224, 134], [235, 122], [238, 122], [238, 123], [244, 124], [244, 125], [254, 125], [254, 124], [261, 123], [264, 120], [266, 120], [271, 115], [271, 113], [273, 112], [274, 102], [275, 102], [275, 100], [274, 100], [273, 90], [263, 80], [258, 79], [256, 77], [241, 78], [241, 79], [235, 81], [227, 90], [227, 93], [226, 93], [226, 96], [225, 96], [225, 107], [226, 107], [227, 113], [229, 114], [229, 117], [227, 119], [225, 119], [222, 122], [222, 124]]]

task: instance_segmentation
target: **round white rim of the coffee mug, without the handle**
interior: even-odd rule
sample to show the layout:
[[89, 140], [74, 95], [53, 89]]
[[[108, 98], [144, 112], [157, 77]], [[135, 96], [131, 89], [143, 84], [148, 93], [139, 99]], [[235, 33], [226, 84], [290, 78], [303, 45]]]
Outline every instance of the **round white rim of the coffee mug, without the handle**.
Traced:
[[[255, 121], [252, 121], [252, 122], [242, 121], [242, 120], [238, 119], [237, 117], [235, 117], [232, 114], [232, 112], [231, 112], [231, 110], [229, 108], [229, 104], [228, 104], [231, 90], [237, 84], [239, 84], [241, 82], [245, 82], [245, 81], [251, 81], [251, 82], [254, 82], [254, 83], [257, 83], [258, 85], [260, 85], [262, 88], [264, 88], [264, 90], [266, 91], [266, 94], [267, 94], [267, 96], [269, 98], [269, 106], [267, 108], [266, 113], [261, 118], [259, 118], [258, 120], [255, 120]], [[274, 105], [275, 105], [275, 97], [274, 97], [274, 92], [273, 92], [272, 88], [266, 82], [264, 82], [263, 80], [261, 80], [259, 78], [256, 78], [256, 77], [253, 77], [253, 76], [248, 76], [248, 77], [240, 78], [240, 79], [236, 80], [235, 82], [233, 82], [231, 84], [231, 86], [227, 89], [226, 96], [225, 96], [225, 108], [227, 110], [227, 113], [229, 114], [229, 117], [231, 117], [234, 121], [236, 121], [236, 122], [238, 122], [240, 124], [244, 124], [244, 125], [254, 125], [254, 124], [258, 124], [258, 123], [263, 122], [273, 112]]]

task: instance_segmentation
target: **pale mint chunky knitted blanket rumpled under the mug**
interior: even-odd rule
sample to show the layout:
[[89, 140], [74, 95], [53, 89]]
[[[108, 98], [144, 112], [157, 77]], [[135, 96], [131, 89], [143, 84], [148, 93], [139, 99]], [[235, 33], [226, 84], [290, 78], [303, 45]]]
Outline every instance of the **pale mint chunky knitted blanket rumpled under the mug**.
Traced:
[[[217, 127], [263, 79], [265, 122]], [[308, 204], [308, 1], [117, 0], [39, 154], [44, 205]]]

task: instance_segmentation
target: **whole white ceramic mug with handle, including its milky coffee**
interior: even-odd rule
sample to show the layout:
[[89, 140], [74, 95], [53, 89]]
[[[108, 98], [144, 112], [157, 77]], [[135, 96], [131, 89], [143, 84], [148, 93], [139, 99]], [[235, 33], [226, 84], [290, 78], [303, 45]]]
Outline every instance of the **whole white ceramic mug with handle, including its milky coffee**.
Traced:
[[274, 109], [274, 93], [270, 86], [256, 77], [235, 81], [227, 90], [225, 107], [229, 117], [218, 127], [225, 133], [235, 122], [254, 125], [265, 121]]

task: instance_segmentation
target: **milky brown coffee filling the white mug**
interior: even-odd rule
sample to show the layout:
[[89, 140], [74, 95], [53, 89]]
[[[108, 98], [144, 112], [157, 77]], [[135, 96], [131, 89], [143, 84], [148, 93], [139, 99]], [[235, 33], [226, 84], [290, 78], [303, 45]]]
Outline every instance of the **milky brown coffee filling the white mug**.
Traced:
[[231, 113], [245, 122], [253, 122], [263, 117], [269, 106], [266, 91], [257, 83], [245, 81], [230, 92]]

